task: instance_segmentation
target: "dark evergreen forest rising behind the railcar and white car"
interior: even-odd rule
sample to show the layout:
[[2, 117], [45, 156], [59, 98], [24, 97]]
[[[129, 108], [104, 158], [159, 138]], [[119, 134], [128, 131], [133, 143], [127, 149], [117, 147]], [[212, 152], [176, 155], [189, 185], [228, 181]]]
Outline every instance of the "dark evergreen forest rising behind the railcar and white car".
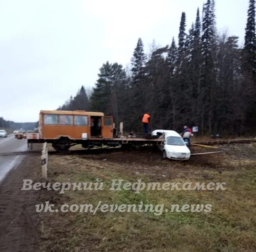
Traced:
[[207, 0], [189, 29], [181, 14], [178, 41], [153, 46], [147, 56], [139, 38], [131, 71], [107, 61], [98, 77], [89, 97], [82, 86], [58, 109], [101, 111], [137, 132], [150, 112], [152, 129], [188, 124], [201, 133], [248, 133], [256, 123], [255, 0], [249, 0], [242, 48], [239, 37], [218, 34], [214, 0]]

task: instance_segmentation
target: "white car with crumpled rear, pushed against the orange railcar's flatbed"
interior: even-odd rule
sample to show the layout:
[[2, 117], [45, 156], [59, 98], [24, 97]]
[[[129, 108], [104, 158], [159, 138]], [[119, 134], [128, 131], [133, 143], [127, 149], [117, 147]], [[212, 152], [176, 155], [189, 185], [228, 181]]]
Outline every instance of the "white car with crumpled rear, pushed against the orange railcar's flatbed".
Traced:
[[164, 138], [162, 144], [158, 145], [164, 159], [188, 160], [190, 158], [189, 148], [176, 131], [157, 129], [152, 132], [152, 135]]

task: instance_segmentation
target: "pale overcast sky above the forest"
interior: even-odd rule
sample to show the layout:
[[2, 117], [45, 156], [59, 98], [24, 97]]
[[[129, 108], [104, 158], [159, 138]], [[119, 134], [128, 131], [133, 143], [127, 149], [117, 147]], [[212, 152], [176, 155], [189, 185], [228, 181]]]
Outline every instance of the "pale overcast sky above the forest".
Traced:
[[[139, 37], [149, 52], [177, 41], [181, 12], [187, 28], [203, 0], [1, 0], [0, 116], [37, 121], [78, 88], [92, 87], [109, 60], [130, 60]], [[216, 0], [217, 28], [243, 44], [247, 0]]]

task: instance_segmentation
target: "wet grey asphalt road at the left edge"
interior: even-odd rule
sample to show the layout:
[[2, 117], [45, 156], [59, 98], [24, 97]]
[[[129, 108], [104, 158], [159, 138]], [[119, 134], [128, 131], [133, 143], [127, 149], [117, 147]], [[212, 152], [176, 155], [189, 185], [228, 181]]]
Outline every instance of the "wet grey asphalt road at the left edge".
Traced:
[[1, 156], [1, 153], [12, 153], [16, 151], [26, 151], [27, 140], [17, 140], [14, 134], [8, 137], [0, 138], [0, 182], [7, 175], [7, 173], [17, 167], [22, 161], [23, 156]]

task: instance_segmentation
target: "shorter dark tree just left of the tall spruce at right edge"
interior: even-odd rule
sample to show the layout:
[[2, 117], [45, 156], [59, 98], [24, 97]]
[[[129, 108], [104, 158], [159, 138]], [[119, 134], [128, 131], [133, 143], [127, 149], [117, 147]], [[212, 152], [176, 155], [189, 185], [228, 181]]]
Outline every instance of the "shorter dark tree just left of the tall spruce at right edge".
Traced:
[[[216, 101], [216, 129], [219, 131], [225, 125], [232, 125], [234, 132], [241, 130], [241, 120], [245, 120], [248, 108], [247, 90], [242, 88], [241, 82], [241, 50], [238, 47], [237, 36], [220, 38], [217, 65], [218, 97]], [[241, 106], [234, 106], [239, 102]], [[239, 118], [239, 119], [238, 119]], [[233, 133], [233, 132], [232, 132]]]

